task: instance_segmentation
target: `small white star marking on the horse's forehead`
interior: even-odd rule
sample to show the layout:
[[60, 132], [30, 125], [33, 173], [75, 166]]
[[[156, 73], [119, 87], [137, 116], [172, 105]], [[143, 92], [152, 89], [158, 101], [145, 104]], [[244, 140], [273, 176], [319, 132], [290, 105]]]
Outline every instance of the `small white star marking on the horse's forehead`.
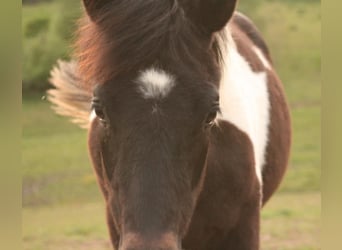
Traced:
[[161, 69], [150, 68], [139, 75], [138, 89], [145, 99], [166, 97], [175, 85], [174, 77]]

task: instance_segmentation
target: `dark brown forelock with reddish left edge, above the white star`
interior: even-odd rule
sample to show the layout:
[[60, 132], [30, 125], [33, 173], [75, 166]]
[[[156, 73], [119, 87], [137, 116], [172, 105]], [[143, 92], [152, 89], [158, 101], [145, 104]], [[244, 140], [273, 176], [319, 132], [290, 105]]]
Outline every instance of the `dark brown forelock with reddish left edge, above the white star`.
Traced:
[[[194, 56], [203, 48], [200, 34], [177, 0], [113, 1], [101, 12], [96, 22], [82, 18], [78, 30], [76, 57], [88, 87], [154, 64], [164, 55], [178, 65], [201, 68]], [[219, 46], [213, 47], [219, 57]]]

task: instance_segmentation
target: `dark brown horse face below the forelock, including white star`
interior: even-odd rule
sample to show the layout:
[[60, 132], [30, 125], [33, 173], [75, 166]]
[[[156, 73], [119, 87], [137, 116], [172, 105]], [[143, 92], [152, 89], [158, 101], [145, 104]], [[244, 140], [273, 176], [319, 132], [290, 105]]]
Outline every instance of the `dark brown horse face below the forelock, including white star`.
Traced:
[[91, 151], [99, 155], [122, 244], [129, 239], [138, 246], [144, 239], [158, 245], [167, 239], [174, 245], [170, 249], [177, 249], [205, 177], [218, 112], [215, 87], [148, 69], [134, 79], [101, 85], [93, 108], [91, 137], [99, 140]]

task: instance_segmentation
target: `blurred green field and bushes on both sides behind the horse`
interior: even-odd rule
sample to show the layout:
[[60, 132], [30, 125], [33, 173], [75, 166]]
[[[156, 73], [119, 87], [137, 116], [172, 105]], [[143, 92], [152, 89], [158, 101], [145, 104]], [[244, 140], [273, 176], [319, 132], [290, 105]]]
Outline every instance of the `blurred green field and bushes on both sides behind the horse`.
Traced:
[[[56, 116], [41, 98], [51, 67], [70, 57], [80, 4], [23, 3], [24, 249], [110, 249], [86, 131]], [[240, 0], [239, 9], [270, 46], [293, 118], [290, 168], [263, 210], [262, 249], [320, 249], [320, 1]]]

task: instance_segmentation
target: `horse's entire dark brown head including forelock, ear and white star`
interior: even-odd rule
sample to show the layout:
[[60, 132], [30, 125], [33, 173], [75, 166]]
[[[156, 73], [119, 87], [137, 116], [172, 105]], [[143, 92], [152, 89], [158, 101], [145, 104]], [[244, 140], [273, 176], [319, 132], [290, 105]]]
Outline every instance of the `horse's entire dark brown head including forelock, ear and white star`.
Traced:
[[218, 112], [212, 35], [235, 2], [84, 0], [80, 71], [103, 83], [89, 146], [119, 249], [181, 248]]

